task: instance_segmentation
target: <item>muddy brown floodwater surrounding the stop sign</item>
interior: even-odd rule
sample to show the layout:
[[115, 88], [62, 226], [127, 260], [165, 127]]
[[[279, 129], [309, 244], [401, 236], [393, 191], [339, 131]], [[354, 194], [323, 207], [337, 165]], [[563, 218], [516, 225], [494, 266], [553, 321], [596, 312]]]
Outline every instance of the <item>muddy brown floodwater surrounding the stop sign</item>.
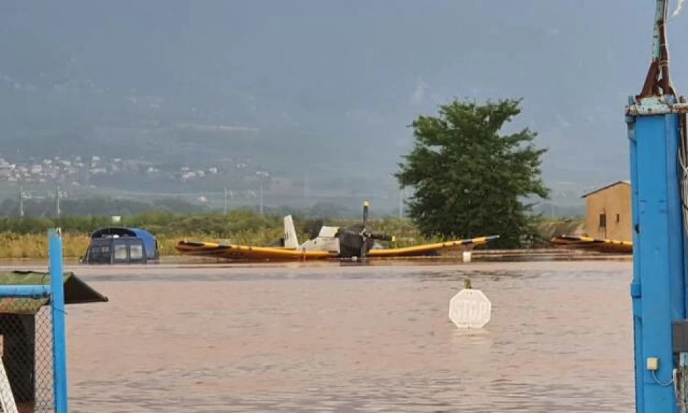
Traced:
[[72, 412], [634, 409], [630, 262], [69, 269], [110, 300], [68, 308]]

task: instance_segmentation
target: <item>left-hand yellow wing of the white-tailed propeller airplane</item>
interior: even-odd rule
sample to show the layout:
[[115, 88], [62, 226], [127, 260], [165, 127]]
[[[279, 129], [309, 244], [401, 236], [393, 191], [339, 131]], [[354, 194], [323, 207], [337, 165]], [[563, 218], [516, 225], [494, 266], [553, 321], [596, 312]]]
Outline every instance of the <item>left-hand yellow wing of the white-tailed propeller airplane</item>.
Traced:
[[225, 258], [229, 260], [322, 260], [336, 257], [330, 251], [298, 251], [294, 248], [275, 246], [249, 246], [238, 244], [217, 244], [217, 242], [180, 241], [175, 248], [182, 254], [202, 257]]

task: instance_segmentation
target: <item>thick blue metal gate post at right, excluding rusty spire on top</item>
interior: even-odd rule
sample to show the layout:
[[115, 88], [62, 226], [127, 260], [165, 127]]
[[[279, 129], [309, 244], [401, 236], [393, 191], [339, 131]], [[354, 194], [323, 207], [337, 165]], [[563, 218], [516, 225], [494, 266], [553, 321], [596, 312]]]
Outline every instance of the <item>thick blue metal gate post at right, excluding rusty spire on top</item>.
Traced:
[[[645, 98], [631, 106], [652, 107], [628, 116], [634, 277], [633, 301], [636, 412], [676, 412], [671, 383], [674, 360], [671, 321], [685, 318], [683, 224], [679, 191], [677, 114], [662, 113], [671, 98]], [[640, 111], [645, 112], [645, 111]], [[658, 370], [647, 369], [656, 357]]]

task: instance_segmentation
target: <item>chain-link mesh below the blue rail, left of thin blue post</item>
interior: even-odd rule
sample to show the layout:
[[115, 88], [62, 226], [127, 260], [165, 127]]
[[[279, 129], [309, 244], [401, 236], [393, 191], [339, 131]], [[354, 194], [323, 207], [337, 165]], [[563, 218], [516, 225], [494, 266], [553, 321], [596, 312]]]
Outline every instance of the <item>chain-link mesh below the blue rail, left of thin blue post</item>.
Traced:
[[0, 297], [0, 412], [53, 413], [52, 315], [47, 298]]

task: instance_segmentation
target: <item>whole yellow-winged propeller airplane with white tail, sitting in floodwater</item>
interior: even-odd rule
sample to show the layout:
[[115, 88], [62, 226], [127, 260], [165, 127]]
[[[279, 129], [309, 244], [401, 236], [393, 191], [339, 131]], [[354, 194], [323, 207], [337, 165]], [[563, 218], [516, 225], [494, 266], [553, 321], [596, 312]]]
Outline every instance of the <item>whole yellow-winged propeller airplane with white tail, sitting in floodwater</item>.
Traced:
[[449, 248], [473, 248], [495, 240], [499, 235], [466, 240], [438, 242], [402, 248], [376, 248], [375, 240], [393, 241], [394, 237], [371, 233], [367, 229], [369, 204], [363, 204], [363, 225], [341, 228], [322, 226], [319, 234], [299, 244], [291, 215], [284, 217], [284, 237], [267, 246], [219, 244], [217, 242], [180, 241], [175, 248], [184, 255], [223, 258], [226, 260], [292, 261], [413, 257], [438, 255]]

